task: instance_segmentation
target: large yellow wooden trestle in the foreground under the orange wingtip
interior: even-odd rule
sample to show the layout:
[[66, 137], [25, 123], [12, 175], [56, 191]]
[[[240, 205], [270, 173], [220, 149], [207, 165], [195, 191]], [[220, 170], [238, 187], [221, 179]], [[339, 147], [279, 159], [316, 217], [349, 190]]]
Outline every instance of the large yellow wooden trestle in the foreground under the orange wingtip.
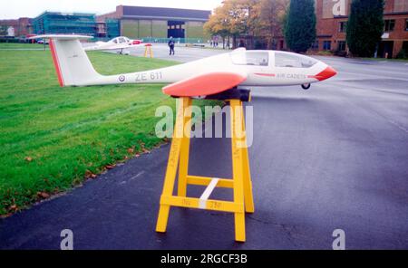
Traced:
[[[245, 242], [245, 212], [254, 212], [252, 183], [249, 171], [247, 135], [242, 101], [230, 103], [231, 152], [233, 178], [198, 177], [189, 175], [189, 135], [191, 129], [191, 99], [180, 98], [177, 119], [171, 141], [170, 157], [160, 197], [160, 211], [156, 232], [166, 232], [170, 206], [231, 212], [235, 215], [235, 240]], [[177, 196], [173, 188], [179, 166]], [[187, 185], [207, 186], [199, 198], [187, 197]], [[232, 188], [233, 201], [208, 199], [215, 187]], [[245, 205], [244, 205], [245, 204]]]

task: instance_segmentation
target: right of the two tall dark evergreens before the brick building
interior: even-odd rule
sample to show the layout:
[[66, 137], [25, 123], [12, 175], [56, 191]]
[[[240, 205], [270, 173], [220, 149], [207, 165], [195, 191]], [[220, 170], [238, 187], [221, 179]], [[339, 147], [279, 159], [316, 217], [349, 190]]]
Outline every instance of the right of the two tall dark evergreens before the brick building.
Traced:
[[384, 32], [384, 0], [353, 0], [346, 41], [354, 56], [372, 57]]

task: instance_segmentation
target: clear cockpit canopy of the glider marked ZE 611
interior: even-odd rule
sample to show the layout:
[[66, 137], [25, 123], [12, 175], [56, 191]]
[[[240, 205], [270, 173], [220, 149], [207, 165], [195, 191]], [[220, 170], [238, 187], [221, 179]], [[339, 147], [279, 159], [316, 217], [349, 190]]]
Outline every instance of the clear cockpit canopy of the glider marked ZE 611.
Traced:
[[[296, 53], [275, 52], [275, 67], [309, 68], [317, 63], [317, 60]], [[267, 51], [244, 51], [237, 50], [230, 53], [231, 61], [236, 65], [268, 66]]]

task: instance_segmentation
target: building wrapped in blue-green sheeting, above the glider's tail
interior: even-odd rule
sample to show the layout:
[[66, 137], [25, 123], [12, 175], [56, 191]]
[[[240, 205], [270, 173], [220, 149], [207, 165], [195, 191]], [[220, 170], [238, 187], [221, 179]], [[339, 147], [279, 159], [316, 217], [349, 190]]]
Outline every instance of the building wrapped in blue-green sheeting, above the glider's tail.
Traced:
[[95, 14], [44, 12], [33, 19], [34, 34], [95, 35]]

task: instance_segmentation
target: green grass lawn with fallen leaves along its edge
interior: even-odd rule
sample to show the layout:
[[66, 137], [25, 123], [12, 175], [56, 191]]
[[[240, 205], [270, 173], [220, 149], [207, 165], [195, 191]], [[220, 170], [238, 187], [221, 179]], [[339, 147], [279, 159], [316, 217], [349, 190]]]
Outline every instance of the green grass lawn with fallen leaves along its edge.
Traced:
[[[0, 215], [80, 185], [164, 142], [155, 136], [160, 118], [154, 113], [160, 105], [174, 109], [175, 100], [161, 92], [162, 85], [60, 88], [49, 51], [1, 50], [12, 45], [0, 44]], [[89, 56], [103, 74], [176, 64]]]

